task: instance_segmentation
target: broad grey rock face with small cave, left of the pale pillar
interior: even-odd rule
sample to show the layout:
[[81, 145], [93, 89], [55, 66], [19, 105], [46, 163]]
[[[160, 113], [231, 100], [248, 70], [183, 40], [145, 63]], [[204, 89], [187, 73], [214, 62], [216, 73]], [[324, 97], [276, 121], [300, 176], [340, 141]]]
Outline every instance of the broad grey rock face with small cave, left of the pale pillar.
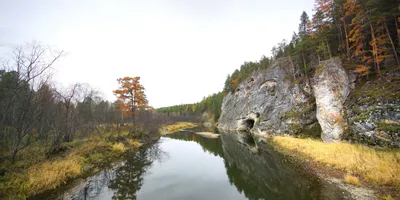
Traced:
[[297, 134], [305, 127], [315, 126], [309, 79], [295, 76], [299, 66], [293, 63], [289, 58], [278, 59], [268, 69], [254, 72], [235, 92], [227, 94], [218, 127], [250, 130], [254, 135], [265, 136]]

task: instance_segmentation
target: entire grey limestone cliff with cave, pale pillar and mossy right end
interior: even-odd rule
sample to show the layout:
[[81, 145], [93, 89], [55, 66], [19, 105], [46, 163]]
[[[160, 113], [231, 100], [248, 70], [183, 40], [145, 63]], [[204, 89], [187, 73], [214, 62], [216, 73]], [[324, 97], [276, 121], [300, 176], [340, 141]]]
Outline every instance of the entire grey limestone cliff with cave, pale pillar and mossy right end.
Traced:
[[[390, 101], [364, 105], [360, 95], [354, 97], [363, 92], [362, 87], [355, 87], [355, 75], [343, 68], [339, 58], [321, 62], [311, 77], [296, 73], [300, 66], [294, 63], [280, 58], [227, 94], [218, 128], [248, 131], [258, 137], [310, 134], [326, 142], [350, 139], [400, 146], [398, 89], [386, 88], [396, 93]], [[361, 99], [370, 98], [378, 97]]]

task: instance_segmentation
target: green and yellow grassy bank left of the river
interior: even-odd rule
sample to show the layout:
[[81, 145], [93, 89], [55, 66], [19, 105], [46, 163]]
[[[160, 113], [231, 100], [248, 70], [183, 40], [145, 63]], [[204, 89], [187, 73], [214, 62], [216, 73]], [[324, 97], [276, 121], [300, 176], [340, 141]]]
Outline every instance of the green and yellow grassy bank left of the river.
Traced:
[[77, 139], [51, 158], [44, 156], [44, 148], [29, 147], [21, 152], [20, 161], [2, 164], [8, 170], [0, 177], [0, 199], [25, 199], [116, 161], [127, 149], [142, 145], [132, 138], [126, 130]]

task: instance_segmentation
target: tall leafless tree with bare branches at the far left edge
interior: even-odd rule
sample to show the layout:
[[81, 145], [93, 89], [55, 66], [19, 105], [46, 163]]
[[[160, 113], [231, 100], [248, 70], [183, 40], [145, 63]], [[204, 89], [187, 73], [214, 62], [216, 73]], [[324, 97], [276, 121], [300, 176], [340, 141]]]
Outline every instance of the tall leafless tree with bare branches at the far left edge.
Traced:
[[2, 75], [5, 92], [0, 97], [0, 134], [8, 137], [13, 163], [17, 153], [31, 144], [35, 126], [43, 115], [43, 110], [36, 106], [36, 90], [49, 81], [49, 69], [62, 55], [62, 51], [55, 53], [38, 42], [32, 42], [15, 47], [11, 65], [3, 66], [12, 71]]

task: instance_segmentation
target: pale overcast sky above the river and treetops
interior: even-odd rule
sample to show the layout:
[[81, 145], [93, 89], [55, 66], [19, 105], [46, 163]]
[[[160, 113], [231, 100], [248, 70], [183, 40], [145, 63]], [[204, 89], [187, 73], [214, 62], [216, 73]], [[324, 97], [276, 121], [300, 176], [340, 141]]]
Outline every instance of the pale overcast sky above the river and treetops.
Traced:
[[54, 80], [104, 97], [140, 76], [154, 107], [221, 91], [244, 61], [270, 56], [314, 0], [0, 0], [0, 57], [33, 40], [68, 52]]

